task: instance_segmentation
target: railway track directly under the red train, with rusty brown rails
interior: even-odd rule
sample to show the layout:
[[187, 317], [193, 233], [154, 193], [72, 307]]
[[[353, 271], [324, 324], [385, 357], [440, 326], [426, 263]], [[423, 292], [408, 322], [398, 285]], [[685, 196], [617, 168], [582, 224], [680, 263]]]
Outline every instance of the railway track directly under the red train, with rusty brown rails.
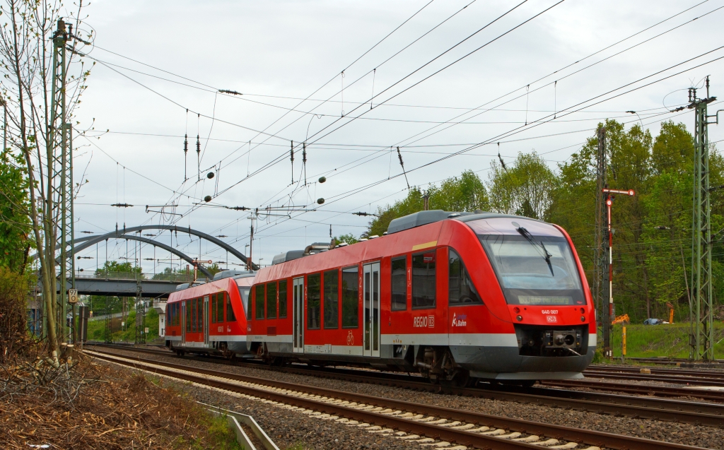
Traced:
[[[165, 350], [127, 348], [125, 348], [125, 350], [134, 350], [153, 355], [174, 356], [171, 352], [167, 352]], [[101, 350], [100, 352], [103, 351]], [[112, 352], [109, 352], [108, 354], [113, 355]], [[724, 424], [724, 405], [722, 404], [683, 402], [651, 397], [623, 396], [563, 389], [522, 389], [516, 388], [515, 386], [505, 386], [505, 389], [446, 388], [444, 386], [433, 385], [428, 381], [421, 380], [419, 379], [420, 377], [400, 375], [396, 373], [379, 373], [376, 371], [345, 369], [312, 370], [303, 367], [295, 368], [293, 366], [287, 366], [285, 368], [269, 368], [269, 366], [260, 365], [258, 363], [243, 362], [235, 365], [269, 370], [282, 370], [286, 373], [313, 375], [321, 378], [337, 378], [358, 383], [383, 384], [417, 391], [443, 391], [448, 394], [473, 396], [505, 402], [535, 404], [545, 407], [576, 409], [581, 411], [597, 412], [599, 414], [627, 415], [644, 419], [675, 421], [713, 427], [722, 427]], [[724, 395], [720, 394], [718, 399], [724, 401]]]

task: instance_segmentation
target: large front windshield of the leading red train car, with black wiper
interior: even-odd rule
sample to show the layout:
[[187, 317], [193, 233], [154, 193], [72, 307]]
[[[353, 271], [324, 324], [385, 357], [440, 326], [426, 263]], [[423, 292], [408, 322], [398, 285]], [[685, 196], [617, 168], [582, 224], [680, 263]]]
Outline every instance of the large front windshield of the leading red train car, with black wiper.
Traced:
[[585, 305], [576, 260], [555, 226], [521, 218], [467, 222], [510, 305]]

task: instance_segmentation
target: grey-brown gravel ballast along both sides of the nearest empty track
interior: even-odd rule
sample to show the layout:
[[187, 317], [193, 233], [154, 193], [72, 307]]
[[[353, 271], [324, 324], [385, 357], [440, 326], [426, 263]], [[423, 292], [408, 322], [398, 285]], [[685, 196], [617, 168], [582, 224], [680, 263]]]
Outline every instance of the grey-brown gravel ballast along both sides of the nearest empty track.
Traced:
[[[517, 404], [499, 400], [470, 398], [446, 394], [433, 394], [429, 392], [411, 391], [409, 389], [397, 388], [394, 386], [380, 386], [367, 383], [355, 383], [329, 378], [318, 378], [310, 375], [296, 375], [282, 373], [274, 370], [261, 368], [246, 368], [234, 365], [222, 365], [214, 362], [195, 360], [193, 358], [179, 359], [174, 356], [162, 356], [151, 354], [138, 354], [132, 351], [113, 349], [114, 353], [127, 356], [139, 356], [148, 360], [163, 360], [177, 364], [189, 365], [191, 367], [207, 368], [228, 373], [254, 376], [258, 378], [300, 383], [309, 386], [318, 386], [338, 391], [348, 391], [358, 394], [382, 396], [390, 399], [404, 400], [422, 404], [448, 407], [454, 409], [468, 409], [476, 412], [483, 412], [490, 415], [502, 417], [513, 417], [535, 422], [564, 425], [569, 427], [596, 430], [605, 433], [615, 433], [624, 436], [636, 436], [639, 438], [682, 443], [689, 446], [700, 446], [707, 449], [724, 450], [724, 439], [722, 430], [706, 426], [697, 426], [683, 423], [669, 423], [658, 420], [641, 420], [633, 417], [615, 417], [613, 415], [600, 415], [594, 412], [581, 412], [568, 409], [541, 407], [533, 404]], [[228, 394], [206, 390], [205, 394], [214, 399], [211, 404], [224, 404], [237, 406], [233, 403], [232, 397]], [[224, 400], [224, 397], [230, 399]], [[198, 398], [202, 402], [202, 398]], [[224, 403], [225, 402], [225, 403]], [[246, 412], [236, 409], [239, 412], [253, 415], [259, 424], [269, 433], [275, 441], [277, 436], [284, 440], [285, 445], [291, 446], [295, 443], [306, 443], [310, 448], [315, 449], [346, 449], [346, 448], [389, 448], [389, 449], [411, 449], [411, 444], [402, 443], [394, 438], [373, 435], [354, 427], [339, 425], [331, 421], [315, 420], [308, 417], [299, 417], [299, 413], [287, 412], [276, 407], [269, 407], [265, 404], [243, 404]], [[275, 420], [279, 417], [279, 420]], [[724, 423], [724, 420], [723, 420]], [[290, 425], [291, 424], [291, 425]], [[270, 431], [273, 430], [273, 436]], [[334, 430], [334, 431], [332, 431]], [[324, 438], [320, 438], [324, 436]], [[313, 441], [308, 441], [313, 439]], [[334, 441], [337, 439], [337, 441]], [[384, 440], [384, 446], [376, 443], [377, 440]], [[390, 441], [389, 443], [387, 441]], [[344, 445], [340, 444], [344, 443]], [[354, 443], [354, 444], [353, 444]], [[279, 445], [279, 443], [278, 443]], [[366, 447], [365, 445], [371, 445]], [[285, 448], [279, 445], [281, 448]]]

